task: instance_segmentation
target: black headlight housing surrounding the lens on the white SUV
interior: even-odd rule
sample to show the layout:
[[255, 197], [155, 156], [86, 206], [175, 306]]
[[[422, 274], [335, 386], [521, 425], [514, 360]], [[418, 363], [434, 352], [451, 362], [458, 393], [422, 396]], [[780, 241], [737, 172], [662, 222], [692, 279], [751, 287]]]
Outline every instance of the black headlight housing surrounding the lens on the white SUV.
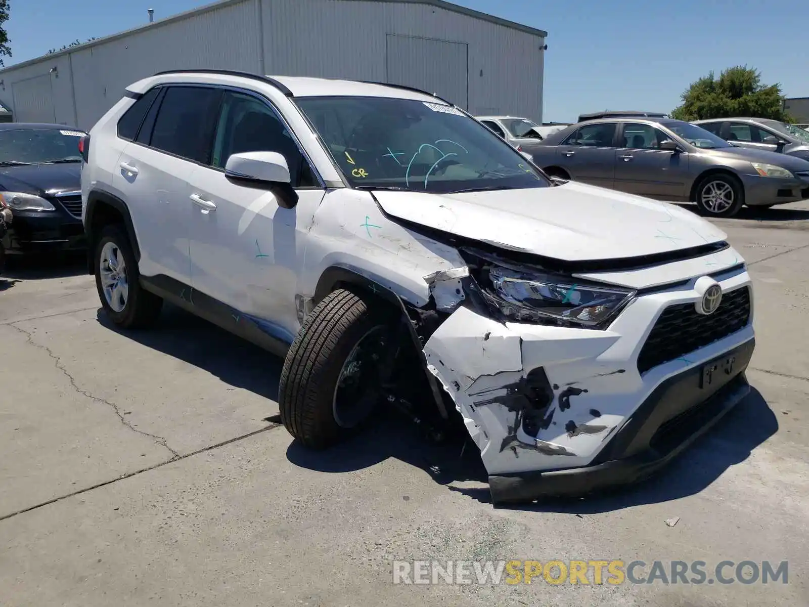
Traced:
[[[594, 282], [587, 279], [575, 278], [570, 274], [564, 274], [552, 270], [544, 270], [540, 267], [511, 263], [502, 258], [490, 256], [478, 250], [464, 249], [462, 251], [465, 261], [468, 262], [470, 280], [468, 287], [477, 291], [487, 304], [493, 316], [502, 322], [529, 323], [533, 325], [549, 325], [557, 327], [577, 328], [577, 329], [607, 329], [612, 321], [635, 299], [637, 290], [628, 287], [617, 287], [602, 282]], [[492, 272], [495, 278], [491, 277]], [[528, 284], [549, 287], [551, 297], [547, 298], [548, 305], [536, 307], [509, 301], [504, 296], [502, 289], [498, 289], [496, 280], [502, 276], [509, 275], [509, 282], [512, 284]], [[502, 284], [502, 281], [501, 281]], [[529, 289], [531, 287], [528, 287]], [[563, 312], [570, 312], [579, 308], [594, 308], [591, 301], [576, 305], [573, 301], [560, 301], [559, 296], [578, 294], [579, 302], [585, 294], [603, 294], [611, 296], [614, 301], [606, 307], [602, 313], [595, 318], [580, 318], [584, 310], [577, 316], [565, 315]], [[544, 295], [537, 291], [532, 291], [532, 295]], [[574, 299], [570, 297], [570, 299]], [[569, 304], [567, 308], [563, 305]], [[556, 309], [559, 312], [553, 313]]]

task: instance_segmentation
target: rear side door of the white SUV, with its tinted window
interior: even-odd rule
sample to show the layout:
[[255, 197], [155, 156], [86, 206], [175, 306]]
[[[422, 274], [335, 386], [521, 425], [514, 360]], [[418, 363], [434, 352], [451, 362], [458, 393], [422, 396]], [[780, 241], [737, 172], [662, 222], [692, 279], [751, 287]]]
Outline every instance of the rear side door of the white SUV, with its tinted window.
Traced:
[[121, 153], [113, 180], [132, 215], [141, 274], [190, 282], [188, 176], [210, 157], [221, 95], [211, 87], [167, 87]]

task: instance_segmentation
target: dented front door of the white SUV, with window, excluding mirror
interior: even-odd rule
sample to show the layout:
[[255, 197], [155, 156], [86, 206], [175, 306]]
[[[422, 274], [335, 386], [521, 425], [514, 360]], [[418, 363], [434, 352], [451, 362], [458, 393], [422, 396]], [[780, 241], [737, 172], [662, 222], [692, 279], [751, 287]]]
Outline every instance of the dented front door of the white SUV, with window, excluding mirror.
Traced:
[[[297, 206], [284, 209], [265, 187], [227, 179], [227, 159], [248, 151], [284, 155]], [[306, 237], [325, 190], [290, 130], [263, 98], [227, 91], [210, 165], [197, 167], [188, 181], [194, 291], [235, 308], [237, 316], [252, 316], [274, 337], [291, 342], [299, 329], [294, 294]]]

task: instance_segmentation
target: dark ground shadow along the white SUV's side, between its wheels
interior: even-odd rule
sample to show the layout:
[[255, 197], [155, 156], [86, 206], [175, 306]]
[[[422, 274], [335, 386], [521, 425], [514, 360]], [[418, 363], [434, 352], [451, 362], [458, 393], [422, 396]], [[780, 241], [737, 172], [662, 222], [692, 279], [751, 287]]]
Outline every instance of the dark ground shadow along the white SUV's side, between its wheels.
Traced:
[[207, 320], [165, 304], [153, 329], [121, 331], [108, 320], [104, 308], [100, 325], [153, 350], [184, 360], [217, 376], [234, 388], [244, 388], [277, 401], [282, 359], [228, 333]]

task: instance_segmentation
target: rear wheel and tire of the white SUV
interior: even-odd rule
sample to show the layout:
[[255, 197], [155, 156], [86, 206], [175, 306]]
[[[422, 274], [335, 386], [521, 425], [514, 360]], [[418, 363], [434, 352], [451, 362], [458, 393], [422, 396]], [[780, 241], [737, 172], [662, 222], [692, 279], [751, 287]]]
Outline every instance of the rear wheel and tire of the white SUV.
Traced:
[[95, 287], [112, 323], [121, 329], [145, 329], [153, 325], [163, 299], [140, 284], [138, 261], [121, 227], [110, 225], [95, 244]]

